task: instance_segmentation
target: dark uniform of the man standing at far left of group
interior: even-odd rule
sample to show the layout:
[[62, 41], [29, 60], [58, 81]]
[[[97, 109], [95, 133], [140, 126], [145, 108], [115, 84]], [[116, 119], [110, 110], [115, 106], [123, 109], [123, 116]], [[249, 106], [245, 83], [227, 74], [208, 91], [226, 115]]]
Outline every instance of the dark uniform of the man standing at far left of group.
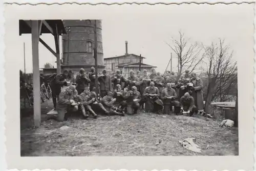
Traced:
[[61, 92], [61, 87], [67, 85], [67, 82], [64, 81], [66, 78], [67, 77], [64, 74], [59, 74], [51, 82], [52, 101], [54, 108], [56, 108], [57, 100], [59, 100], [59, 93]]

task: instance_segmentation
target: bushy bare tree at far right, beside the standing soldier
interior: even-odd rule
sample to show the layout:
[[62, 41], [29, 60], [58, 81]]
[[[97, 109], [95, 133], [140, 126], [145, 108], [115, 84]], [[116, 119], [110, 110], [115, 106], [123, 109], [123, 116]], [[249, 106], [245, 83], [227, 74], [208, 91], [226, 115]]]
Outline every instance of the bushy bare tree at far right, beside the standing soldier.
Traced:
[[224, 45], [224, 40], [219, 43], [211, 43], [204, 47], [204, 61], [208, 77], [206, 101], [204, 111], [211, 113], [211, 102], [216, 97], [224, 101], [230, 90], [237, 85], [237, 62], [232, 62], [232, 52], [229, 46]]

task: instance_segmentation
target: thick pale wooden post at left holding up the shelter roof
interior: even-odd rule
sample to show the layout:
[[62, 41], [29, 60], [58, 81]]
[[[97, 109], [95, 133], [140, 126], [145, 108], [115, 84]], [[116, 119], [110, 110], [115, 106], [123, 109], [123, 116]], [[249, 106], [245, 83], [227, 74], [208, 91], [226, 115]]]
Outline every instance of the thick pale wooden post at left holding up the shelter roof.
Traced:
[[33, 94], [34, 94], [34, 126], [41, 122], [40, 72], [39, 72], [39, 21], [31, 21], [32, 31], [32, 61], [33, 61]]

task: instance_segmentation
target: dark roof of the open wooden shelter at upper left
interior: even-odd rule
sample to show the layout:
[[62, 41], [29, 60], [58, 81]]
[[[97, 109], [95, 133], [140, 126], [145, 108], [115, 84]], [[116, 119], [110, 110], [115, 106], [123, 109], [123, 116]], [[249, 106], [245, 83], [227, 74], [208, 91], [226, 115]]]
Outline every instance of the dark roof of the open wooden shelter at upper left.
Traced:
[[[29, 21], [29, 20], [22, 20], [22, 19], [19, 20], [19, 35], [31, 34], [31, 27], [27, 24], [26, 21]], [[56, 28], [56, 25], [57, 25], [57, 30], [59, 35], [66, 34], [66, 30], [64, 28], [64, 25], [61, 19], [47, 19], [45, 21], [48, 23], [48, 25], [51, 28]], [[46, 34], [46, 33], [51, 33], [51, 32], [45, 25], [42, 25], [41, 34]]]

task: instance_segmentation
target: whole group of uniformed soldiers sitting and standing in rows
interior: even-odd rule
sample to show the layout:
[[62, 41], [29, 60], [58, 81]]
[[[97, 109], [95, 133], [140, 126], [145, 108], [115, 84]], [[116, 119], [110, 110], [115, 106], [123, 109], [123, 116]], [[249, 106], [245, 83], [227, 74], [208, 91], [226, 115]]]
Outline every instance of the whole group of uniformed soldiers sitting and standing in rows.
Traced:
[[[95, 79], [94, 67], [88, 74], [81, 68], [75, 78], [71, 70], [57, 75], [51, 82], [54, 109], [58, 113], [54, 118], [63, 121], [74, 112], [80, 112], [85, 118], [90, 115], [97, 118], [99, 113], [124, 116], [140, 110], [177, 115], [186, 112], [189, 116], [203, 114], [203, 83], [189, 70], [177, 80], [174, 72], [161, 75], [154, 68], [150, 74], [147, 70], [142, 74], [130, 71], [128, 78], [124, 78], [120, 70], [110, 76], [104, 69], [97, 82]], [[61, 91], [68, 82], [70, 86]]]

